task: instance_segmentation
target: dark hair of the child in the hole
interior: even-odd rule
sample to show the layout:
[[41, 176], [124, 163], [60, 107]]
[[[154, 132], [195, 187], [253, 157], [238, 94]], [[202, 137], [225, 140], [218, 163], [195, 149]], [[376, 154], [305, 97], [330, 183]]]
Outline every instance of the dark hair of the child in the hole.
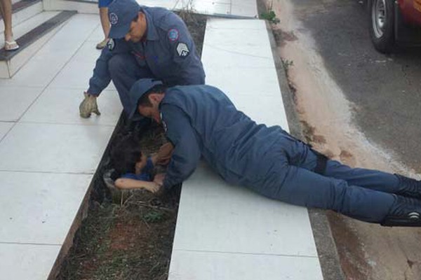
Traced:
[[119, 174], [135, 173], [135, 165], [141, 158], [140, 141], [133, 135], [123, 137], [112, 148], [112, 165]]

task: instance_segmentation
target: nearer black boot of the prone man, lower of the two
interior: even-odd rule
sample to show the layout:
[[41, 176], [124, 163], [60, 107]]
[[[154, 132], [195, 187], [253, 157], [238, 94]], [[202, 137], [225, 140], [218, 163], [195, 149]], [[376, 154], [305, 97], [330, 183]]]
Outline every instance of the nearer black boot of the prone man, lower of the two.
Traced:
[[380, 225], [388, 227], [421, 227], [421, 202], [396, 195], [396, 200]]

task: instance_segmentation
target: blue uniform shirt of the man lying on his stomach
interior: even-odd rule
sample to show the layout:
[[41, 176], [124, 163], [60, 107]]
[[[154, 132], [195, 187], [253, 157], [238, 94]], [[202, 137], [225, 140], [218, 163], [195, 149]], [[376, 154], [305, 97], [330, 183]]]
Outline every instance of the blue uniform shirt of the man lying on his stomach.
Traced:
[[175, 146], [165, 188], [185, 181], [201, 156], [229, 183], [261, 188], [279, 184], [276, 170], [282, 162], [275, 158], [282, 153], [281, 141], [295, 150], [297, 141], [281, 127], [256, 124], [215, 87], [171, 87], [160, 111], [166, 136]]

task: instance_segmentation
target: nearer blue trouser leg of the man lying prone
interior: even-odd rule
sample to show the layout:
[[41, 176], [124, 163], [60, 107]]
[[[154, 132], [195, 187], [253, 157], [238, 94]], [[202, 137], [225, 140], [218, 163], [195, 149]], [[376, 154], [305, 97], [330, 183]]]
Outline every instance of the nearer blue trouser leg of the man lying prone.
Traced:
[[276, 165], [273, 183], [258, 189], [262, 195], [303, 207], [330, 209], [370, 223], [381, 223], [396, 200], [389, 193], [349, 186], [344, 180], [290, 165], [287, 158], [282, 161]]

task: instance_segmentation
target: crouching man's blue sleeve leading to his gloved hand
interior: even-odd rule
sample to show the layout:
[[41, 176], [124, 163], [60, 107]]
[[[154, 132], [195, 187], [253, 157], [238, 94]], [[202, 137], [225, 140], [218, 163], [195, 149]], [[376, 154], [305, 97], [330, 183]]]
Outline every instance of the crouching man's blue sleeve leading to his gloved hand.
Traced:
[[122, 40], [110, 40], [105, 48], [102, 49], [100, 57], [97, 59], [93, 76], [89, 80], [89, 94], [98, 96], [102, 90], [107, 87], [111, 81], [109, 75], [108, 62], [114, 54], [128, 52], [127, 44]]

